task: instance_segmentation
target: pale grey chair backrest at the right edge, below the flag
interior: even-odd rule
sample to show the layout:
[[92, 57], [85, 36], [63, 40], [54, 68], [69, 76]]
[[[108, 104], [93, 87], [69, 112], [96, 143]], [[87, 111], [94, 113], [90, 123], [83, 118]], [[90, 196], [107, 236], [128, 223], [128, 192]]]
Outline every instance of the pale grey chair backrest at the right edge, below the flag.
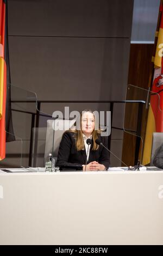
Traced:
[[163, 132], [153, 132], [151, 166], [153, 166], [153, 159], [154, 159], [156, 150], [161, 146], [162, 143], [163, 143]]

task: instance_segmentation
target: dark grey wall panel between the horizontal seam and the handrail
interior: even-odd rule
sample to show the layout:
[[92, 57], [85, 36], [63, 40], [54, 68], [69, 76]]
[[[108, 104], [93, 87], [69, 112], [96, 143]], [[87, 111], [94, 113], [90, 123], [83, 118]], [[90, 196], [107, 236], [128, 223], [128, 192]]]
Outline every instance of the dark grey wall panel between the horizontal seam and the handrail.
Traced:
[[122, 100], [129, 46], [129, 39], [11, 36], [11, 81], [39, 100]]

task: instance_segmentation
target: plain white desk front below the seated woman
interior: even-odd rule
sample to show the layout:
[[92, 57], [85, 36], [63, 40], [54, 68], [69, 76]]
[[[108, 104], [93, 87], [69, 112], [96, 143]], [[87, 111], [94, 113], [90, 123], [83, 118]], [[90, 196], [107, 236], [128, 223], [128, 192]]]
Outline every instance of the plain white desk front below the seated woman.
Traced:
[[163, 245], [163, 171], [0, 173], [1, 245]]

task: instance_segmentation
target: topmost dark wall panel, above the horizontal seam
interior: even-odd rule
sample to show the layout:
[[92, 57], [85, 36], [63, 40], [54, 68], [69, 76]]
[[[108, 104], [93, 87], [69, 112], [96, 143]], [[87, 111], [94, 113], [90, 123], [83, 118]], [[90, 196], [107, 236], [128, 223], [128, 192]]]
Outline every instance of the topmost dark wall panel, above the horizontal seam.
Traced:
[[130, 37], [133, 0], [9, 0], [9, 35]]

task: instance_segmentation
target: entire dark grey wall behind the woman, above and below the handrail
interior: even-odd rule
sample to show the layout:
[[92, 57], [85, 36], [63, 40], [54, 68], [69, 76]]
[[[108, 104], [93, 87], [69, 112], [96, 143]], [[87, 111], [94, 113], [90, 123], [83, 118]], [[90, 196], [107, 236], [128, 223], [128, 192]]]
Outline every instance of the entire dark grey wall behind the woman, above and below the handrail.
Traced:
[[[37, 93], [39, 100], [124, 100], [128, 80], [133, 0], [8, 0], [11, 82]], [[18, 99], [26, 92], [18, 93]], [[13, 94], [12, 94], [13, 95]], [[33, 94], [27, 93], [28, 96]], [[56, 105], [55, 105], [56, 106]], [[66, 104], [42, 104], [52, 114]], [[71, 111], [109, 110], [107, 104], [71, 104]], [[34, 112], [17, 103], [12, 107]], [[116, 104], [113, 125], [123, 124], [123, 107]], [[27, 162], [30, 114], [14, 112], [15, 133], [22, 137]], [[46, 126], [41, 117], [41, 126]], [[121, 157], [122, 131], [112, 129], [111, 149]], [[16, 142], [19, 143], [19, 142]], [[8, 144], [9, 164], [19, 151]], [[112, 165], [120, 162], [111, 156]], [[6, 161], [6, 160], [5, 160]], [[18, 161], [18, 157], [15, 161]], [[7, 161], [8, 162], [8, 161]], [[16, 164], [16, 163], [15, 163]]]

